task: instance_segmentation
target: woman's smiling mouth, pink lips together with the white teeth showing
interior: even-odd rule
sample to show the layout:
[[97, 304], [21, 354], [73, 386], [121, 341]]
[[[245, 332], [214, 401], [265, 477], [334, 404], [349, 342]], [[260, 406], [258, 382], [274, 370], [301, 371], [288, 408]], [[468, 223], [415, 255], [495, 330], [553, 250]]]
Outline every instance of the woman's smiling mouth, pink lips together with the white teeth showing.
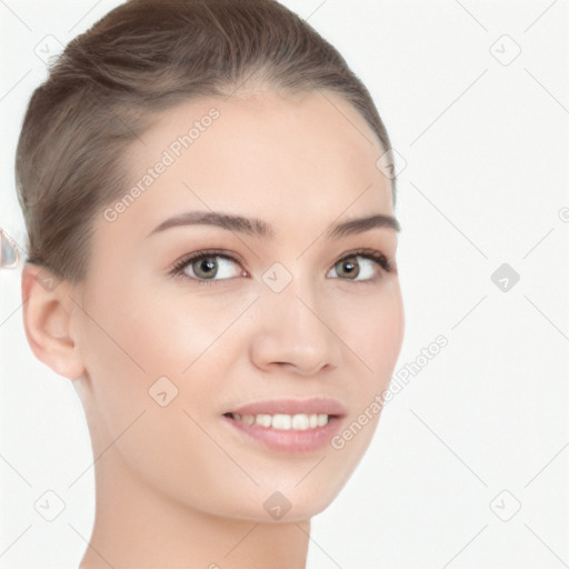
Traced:
[[240, 440], [257, 448], [287, 452], [321, 449], [338, 432], [345, 407], [328, 398], [251, 403], [222, 415]]

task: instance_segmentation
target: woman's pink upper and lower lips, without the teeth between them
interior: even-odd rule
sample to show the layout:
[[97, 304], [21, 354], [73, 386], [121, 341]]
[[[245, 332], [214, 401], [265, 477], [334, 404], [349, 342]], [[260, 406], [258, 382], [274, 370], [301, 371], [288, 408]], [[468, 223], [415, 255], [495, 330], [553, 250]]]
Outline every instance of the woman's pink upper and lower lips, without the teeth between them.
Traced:
[[[306, 430], [283, 430], [260, 425], [247, 425], [230, 417], [230, 413], [238, 415], [297, 415], [297, 413], [327, 413], [329, 422], [322, 427]], [[222, 416], [222, 420], [231, 430], [238, 431], [249, 440], [261, 443], [263, 447], [288, 451], [306, 452], [317, 450], [330, 443], [330, 439], [340, 430], [342, 418], [348, 411], [339, 401], [327, 397], [311, 399], [280, 399], [271, 401], [257, 401], [254, 403], [239, 407]]]

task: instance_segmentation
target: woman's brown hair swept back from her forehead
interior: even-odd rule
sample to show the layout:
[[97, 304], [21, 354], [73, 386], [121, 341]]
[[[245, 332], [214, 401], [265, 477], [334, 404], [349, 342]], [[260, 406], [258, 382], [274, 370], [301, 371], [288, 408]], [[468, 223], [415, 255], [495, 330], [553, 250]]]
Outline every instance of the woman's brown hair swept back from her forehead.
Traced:
[[73, 39], [31, 97], [16, 157], [28, 260], [82, 280], [94, 216], [124, 190], [126, 149], [157, 112], [251, 78], [339, 94], [391, 150], [363, 83], [277, 1], [130, 0]]

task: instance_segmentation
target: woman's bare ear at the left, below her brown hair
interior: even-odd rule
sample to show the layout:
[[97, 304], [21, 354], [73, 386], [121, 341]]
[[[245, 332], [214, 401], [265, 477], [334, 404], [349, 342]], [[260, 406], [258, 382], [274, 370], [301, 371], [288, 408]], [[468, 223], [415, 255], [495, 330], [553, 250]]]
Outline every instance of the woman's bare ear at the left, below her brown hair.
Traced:
[[22, 315], [31, 351], [59, 376], [80, 378], [84, 367], [71, 337], [71, 288], [48, 269], [26, 262]]

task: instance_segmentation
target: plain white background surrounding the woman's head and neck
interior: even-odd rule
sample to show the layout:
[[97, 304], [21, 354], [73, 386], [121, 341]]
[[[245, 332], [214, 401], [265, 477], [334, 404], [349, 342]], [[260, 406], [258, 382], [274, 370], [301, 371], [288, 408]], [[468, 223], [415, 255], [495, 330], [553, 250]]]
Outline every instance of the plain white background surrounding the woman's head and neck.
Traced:
[[[0, 227], [22, 248], [13, 156], [46, 77], [37, 46], [66, 44], [118, 3], [0, 2]], [[361, 77], [405, 166], [396, 370], [449, 341], [313, 519], [309, 569], [569, 567], [569, 2], [282, 3]], [[520, 276], [507, 291], [491, 280], [502, 263]], [[0, 567], [77, 567], [93, 458], [69, 380], [26, 342], [21, 266], [0, 270]], [[47, 490], [66, 503], [52, 522], [33, 507]]]

